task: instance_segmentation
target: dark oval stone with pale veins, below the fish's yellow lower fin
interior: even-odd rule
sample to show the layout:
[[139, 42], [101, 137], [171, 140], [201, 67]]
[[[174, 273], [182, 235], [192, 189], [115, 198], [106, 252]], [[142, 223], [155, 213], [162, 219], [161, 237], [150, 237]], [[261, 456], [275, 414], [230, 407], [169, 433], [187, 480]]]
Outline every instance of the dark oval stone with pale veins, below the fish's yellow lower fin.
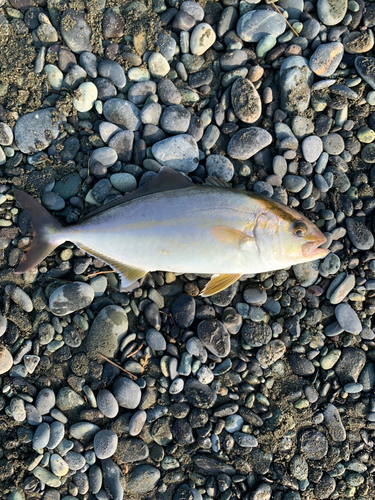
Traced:
[[205, 319], [197, 328], [197, 334], [206, 349], [225, 358], [230, 352], [230, 335], [223, 323], [216, 319]]

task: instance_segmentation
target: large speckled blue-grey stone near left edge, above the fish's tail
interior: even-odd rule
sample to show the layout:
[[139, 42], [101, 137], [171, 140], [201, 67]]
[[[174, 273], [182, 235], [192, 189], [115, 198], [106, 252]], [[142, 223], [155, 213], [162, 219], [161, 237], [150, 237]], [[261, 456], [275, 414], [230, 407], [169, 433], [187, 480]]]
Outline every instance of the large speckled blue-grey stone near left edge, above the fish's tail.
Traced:
[[47, 148], [60, 134], [66, 117], [56, 108], [45, 108], [21, 116], [14, 127], [14, 139], [22, 153], [33, 155]]

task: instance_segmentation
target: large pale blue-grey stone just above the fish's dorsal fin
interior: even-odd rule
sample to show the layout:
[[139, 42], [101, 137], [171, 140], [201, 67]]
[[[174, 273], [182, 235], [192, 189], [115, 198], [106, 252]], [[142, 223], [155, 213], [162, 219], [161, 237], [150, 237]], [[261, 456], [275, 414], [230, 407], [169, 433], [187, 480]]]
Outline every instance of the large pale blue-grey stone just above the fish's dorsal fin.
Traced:
[[195, 140], [188, 134], [168, 137], [152, 146], [152, 154], [161, 165], [178, 172], [193, 172], [199, 162], [199, 151]]

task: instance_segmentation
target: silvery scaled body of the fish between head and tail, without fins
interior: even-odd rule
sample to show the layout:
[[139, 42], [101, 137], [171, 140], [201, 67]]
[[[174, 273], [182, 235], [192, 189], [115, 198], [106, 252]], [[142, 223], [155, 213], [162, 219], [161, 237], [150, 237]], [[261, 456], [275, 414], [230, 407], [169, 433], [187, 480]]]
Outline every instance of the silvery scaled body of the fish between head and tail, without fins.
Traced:
[[165, 191], [109, 209], [70, 228], [67, 239], [127, 266], [145, 271], [196, 274], [263, 272], [254, 240], [246, 248], [218, 241], [212, 227], [246, 232], [256, 200], [217, 188]]

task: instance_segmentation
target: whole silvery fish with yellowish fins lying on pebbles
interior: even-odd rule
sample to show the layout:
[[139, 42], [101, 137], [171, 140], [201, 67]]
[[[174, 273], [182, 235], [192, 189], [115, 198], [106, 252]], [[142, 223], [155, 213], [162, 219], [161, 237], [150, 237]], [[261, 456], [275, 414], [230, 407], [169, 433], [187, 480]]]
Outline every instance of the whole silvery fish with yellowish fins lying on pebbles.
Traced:
[[234, 189], [218, 178], [204, 185], [170, 167], [152, 181], [64, 227], [37, 200], [14, 189], [31, 216], [33, 240], [15, 272], [37, 266], [70, 241], [120, 274], [129, 287], [150, 271], [212, 275], [209, 297], [241, 276], [322, 259], [326, 237], [307, 217], [276, 200]]

